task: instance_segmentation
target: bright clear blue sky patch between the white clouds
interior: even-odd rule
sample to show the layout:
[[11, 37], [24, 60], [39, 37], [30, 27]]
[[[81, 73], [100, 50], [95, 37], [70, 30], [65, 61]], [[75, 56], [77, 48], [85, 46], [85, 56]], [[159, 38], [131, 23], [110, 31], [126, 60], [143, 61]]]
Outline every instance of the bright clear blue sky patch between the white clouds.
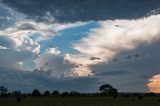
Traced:
[[53, 38], [50, 42], [58, 47], [62, 53], [74, 53], [75, 50], [73, 50], [72, 44], [87, 36], [87, 32], [97, 27], [99, 27], [99, 23], [93, 21], [82, 26], [64, 29], [60, 32], [60, 36]]

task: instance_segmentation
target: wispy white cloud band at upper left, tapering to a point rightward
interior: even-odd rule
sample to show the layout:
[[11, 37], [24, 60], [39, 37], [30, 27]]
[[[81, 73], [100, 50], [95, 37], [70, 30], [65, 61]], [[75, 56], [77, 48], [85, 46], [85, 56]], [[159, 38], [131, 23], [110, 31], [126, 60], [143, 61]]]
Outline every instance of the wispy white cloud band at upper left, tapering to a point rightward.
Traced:
[[42, 41], [60, 35], [61, 30], [81, 26], [84, 24], [87, 24], [87, 22], [47, 24], [44, 22], [35, 22], [32, 20], [23, 19], [16, 21], [14, 26], [0, 31], [0, 35], [34, 36], [36, 38], [36, 41]]

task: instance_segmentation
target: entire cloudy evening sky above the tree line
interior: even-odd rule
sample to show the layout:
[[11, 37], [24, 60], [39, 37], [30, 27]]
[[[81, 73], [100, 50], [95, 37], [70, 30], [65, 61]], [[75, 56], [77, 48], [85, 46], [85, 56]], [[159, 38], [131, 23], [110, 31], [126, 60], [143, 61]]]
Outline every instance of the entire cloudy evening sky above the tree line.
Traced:
[[160, 93], [159, 0], [0, 0], [0, 85]]

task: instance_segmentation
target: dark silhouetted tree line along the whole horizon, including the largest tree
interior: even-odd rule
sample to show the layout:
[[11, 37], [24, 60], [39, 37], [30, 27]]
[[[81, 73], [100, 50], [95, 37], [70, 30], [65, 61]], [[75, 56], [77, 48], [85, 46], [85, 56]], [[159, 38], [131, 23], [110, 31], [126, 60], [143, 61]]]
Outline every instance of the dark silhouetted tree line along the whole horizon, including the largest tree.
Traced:
[[59, 92], [58, 90], [54, 90], [52, 92], [46, 90], [43, 93], [41, 93], [38, 89], [34, 89], [31, 93], [22, 93], [21, 91], [13, 91], [8, 92], [8, 89], [4, 86], [0, 87], [0, 97], [8, 97], [8, 96], [16, 96], [16, 97], [26, 97], [26, 96], [111, 96], [116, 98], [117, 96], [124, 96], [125, 98], [129, 98], [130, 96], [138, 96], [139, 99], [142, 98], [142, 96], [156, 96], [160, 94], [155, 94], [153, 92], [150, 93], [118, 93], [118, 90], [114, 87], [112, 87], [109, 84], [104, 84], [99, 86], [99, 92], [97, 93], [80, 93], [77, 91], [71, 91], [71, 92]]

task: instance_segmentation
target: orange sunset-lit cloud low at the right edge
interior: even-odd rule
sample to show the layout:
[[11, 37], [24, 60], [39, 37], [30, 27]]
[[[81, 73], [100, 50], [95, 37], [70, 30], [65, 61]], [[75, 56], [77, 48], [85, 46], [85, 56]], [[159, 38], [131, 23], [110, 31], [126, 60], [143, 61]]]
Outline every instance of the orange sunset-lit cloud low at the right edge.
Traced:
[[147, 86], [149, 88], [149, 92], [160, 93], [160, 74], [149, 79]]

